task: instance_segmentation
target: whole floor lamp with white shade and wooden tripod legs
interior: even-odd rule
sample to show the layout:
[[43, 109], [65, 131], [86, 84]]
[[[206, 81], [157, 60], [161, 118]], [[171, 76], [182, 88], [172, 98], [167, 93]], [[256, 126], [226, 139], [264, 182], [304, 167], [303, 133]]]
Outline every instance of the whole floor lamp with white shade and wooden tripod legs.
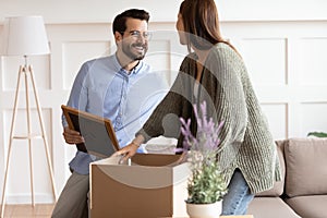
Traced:
[[[2, 205], [1, 217], [4, 216], [5, 186], [7, 186], [7, 180], [9, 173], [12, 143], [14, 140], [26, 140], [28, 142], [32, 205], [35, 206], [34, 185], [33, 185], [32, 140], [36, 137], [43, 138], [45, 144], [46, 155], [47, 155], [48, 170], [52, 183], [52, 192], [53, 192], [55, 201], [57, 201], [52, 164], [49, 155], [48, 142], [47, 142], [44, 120], [41, 116], [41, 108], [38, 100], [38, 93], [34, 81], [34, 72], [32, 66], [27, 63], [28, 56], [47, 55], [50, 52], [43, 17], [41, 16], [7, 17], [4, 21], [4, 44], [3, 45], [4, 45], [3, 56], [24, 57], [25, 64], [20, 66], [20, 71], [17, 75], [17, 85], [15, 90], [15, 99], [14, 99], [13, 116], [12, 116], [10, 138], [9, 138], [9, 146], [8, 146], [7, 165], [5, 165], [5, 172], [4, 172], [4, 182], [3, 182], [3, 192], [2, 192], [2, 202], [1, 202]], [[25, 100], [26, 100], [25, 110], [26, 110], [26, 120], [27, 120], [26, 123], [27, 133], [26, 135], [17, 136], [14, 134], [14, 126], [15, 126], [15, 119], [17, 113], [20, 84], [21, 84], [21, 80], [23, 80], [22, 77], [24, 78], [24, 84], [25, 84]], [[32, 133], [31, 107], [29, 107], [29, 98], [28, 98], [28, 80], [32, 82], [32, 86], [33, 86], [32, 90], [34, 93], [35, 102], [37, 107], [38, 119], [39, 119], [39, 124], [41, 130], [40, 134]]]

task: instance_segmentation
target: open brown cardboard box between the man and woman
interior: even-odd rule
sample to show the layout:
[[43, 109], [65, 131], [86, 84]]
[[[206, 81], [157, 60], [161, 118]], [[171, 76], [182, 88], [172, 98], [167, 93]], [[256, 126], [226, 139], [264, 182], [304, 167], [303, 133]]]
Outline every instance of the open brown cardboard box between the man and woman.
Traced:
[[90, 165], [92, 218], [187, 217], [190, 169], [180, 155], [136, 154], [132, 165], [110, 157]]

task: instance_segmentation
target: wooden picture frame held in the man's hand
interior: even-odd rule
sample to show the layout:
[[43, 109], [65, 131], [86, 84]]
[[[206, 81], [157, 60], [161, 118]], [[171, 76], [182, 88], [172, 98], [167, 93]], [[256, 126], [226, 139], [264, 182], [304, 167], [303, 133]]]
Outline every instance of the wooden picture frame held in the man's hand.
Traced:
[[119, 150], [119, 143], [109, 119], [62, 105], [69, 128], [81, 133], [85, 143], [76, 144], [78, 150], [98, 157], [109, 157]]

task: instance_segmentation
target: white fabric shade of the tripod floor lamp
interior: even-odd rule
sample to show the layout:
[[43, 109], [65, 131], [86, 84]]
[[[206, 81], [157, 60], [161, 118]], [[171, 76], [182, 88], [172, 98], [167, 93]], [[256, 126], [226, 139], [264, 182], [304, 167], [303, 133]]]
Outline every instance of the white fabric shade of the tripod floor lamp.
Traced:
[[37, 56], [50, 52], [41, 16], [7, 17], [3, 33], [4, 56]]

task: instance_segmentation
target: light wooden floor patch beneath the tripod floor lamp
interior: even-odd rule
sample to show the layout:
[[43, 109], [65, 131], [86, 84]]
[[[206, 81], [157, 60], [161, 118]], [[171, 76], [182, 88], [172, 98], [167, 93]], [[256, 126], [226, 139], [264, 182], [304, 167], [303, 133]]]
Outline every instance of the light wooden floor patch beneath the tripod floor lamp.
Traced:
[[38, 204], [34, 207], [29, 205], [5, 205], [5, 218], [49, 218], [53, 209], [53, 204]]

